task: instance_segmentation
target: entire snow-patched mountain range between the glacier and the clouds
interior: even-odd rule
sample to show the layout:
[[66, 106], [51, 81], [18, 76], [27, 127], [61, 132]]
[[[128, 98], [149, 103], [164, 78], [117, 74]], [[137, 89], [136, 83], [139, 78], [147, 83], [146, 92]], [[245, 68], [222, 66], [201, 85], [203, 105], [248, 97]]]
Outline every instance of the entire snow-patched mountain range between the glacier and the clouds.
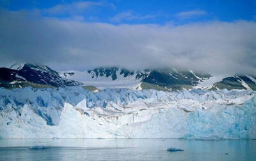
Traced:
[[120, 67], [99, 67], [83, 72], [58, 73], [50, 67], [37, 64], [13, 64], [10, 68], [0, 67], [0, 87], [4, 88], [84, 86], [92, 91], [98, 91], [98, 88], [164, 91], [192, 88], [256, 90], [255, 76], [226, 76], [220, 80], [214, 78], [215, 76], [209, 73], [182, 71], [174, 68], [134, 71]]

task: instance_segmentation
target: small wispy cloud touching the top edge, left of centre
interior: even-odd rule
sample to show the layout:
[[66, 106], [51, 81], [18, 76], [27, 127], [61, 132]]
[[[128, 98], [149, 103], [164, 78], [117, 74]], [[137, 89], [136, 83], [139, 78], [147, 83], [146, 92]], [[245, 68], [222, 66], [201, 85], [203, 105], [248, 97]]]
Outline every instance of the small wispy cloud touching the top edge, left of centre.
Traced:
[[92, 1], [81, 1], [74, 2], [71, 4], [57, 4], [52, 8], [47, 8], [42, 10], [44, 13], [48, 13], [51, 15], [62, 15], [62, 14], [76, 14], [81, 13], [81, 11], [87, 10], [93, 6], [102, 6], [104, 3], [100, 2], [92, 2]]

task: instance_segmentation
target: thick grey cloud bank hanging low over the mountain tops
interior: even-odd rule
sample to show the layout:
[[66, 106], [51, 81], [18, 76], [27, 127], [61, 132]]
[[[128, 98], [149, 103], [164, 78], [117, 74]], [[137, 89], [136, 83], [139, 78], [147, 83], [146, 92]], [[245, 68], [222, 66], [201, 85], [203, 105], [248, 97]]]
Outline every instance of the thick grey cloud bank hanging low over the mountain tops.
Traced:
[[256, 75], [256, 23], [112, 25], [0, 10], [0, 64], [35, 62], [58, 71], [99, 66], [180, 67]]

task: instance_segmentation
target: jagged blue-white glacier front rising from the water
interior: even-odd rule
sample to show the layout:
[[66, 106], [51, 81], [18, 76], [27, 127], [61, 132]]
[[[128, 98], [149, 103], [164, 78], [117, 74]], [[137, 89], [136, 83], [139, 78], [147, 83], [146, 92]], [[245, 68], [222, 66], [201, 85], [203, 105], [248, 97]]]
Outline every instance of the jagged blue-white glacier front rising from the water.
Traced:
[[0, 88], [3, 138], [256, 138], [248, 90]]

